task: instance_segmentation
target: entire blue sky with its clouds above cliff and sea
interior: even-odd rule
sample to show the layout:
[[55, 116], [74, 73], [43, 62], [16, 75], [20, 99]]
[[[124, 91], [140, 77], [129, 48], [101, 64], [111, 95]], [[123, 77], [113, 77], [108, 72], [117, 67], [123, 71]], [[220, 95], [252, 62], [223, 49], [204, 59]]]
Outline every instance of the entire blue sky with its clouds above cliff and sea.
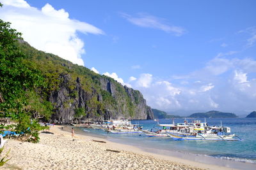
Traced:
[[25, 41], [169, 113], [256, 110], [256, 1], [0, 0]]

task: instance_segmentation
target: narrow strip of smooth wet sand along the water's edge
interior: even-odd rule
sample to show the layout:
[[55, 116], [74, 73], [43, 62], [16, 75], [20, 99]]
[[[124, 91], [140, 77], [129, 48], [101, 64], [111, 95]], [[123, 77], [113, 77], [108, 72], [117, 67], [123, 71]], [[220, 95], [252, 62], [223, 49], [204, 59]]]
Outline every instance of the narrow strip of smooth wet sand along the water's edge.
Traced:
[[[131, 150], [131, 152], [150, 154], [150, 155], [155, 156], [156, 158], [161, 157], [164, 160], [178, 160], [179, 162], [184, 162], [184, 160], [186, 160], [186, 161], [188, 161], [189, 164], [193, 164], [196, 166], [198, 166], [198, 164], [200, 164], [201, 168], [206, 168], [206, 169], [216, 169], [216, 168], [219, 168], [219, 169], [225, 169], [225, 168], [227, 168], [227, 169], [244, 169], [244, 168], [255, 169], [256, 168], [256, 164], [253, 164], [250, 162], [239, 162], [239, 161], [235, 161], [235, 160], [211, 157], [209, 155], [200, 155], [200, 154], [189, 153], [189, 152], [179, 152], [177, 150], [166, 151], [166, 150], [159, 149], [159, 148], [148, 148], [147, 146], [143, 146], [143, 145], [141, 145], [141, 146], [131, 145], [124, 139], [116, 139], [113, 137], [111, 137], [111, 138], [105, 137], [104, 138], [104, 136], [101, 136], [100, 134], [93, 134], [92, 132], [86, 132], [86, 134], [85, 134], [84, 132], [79, 131], [79, 134], [81, 134], [83, 136], [88, 136], [88, 137], [90, 136], [90, 138], [105, 139], [106, 141], [111, 142], [111, 143], [118, 143], [120, 145], [124, 145], [124, 148], [131, 147], [131, 146], [135, 147], [136, 149]], [[139, 150], [139, 152], [138, 152], [138, 150]], [[209, 167], [209, 166], [211, 166], [211, 167]]]

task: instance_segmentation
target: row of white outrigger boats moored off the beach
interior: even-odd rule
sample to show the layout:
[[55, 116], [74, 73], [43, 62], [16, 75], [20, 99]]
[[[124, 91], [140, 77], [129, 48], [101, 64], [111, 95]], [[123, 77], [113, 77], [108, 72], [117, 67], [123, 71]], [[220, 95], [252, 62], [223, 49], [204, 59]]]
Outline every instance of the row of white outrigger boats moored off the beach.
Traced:
[[174, 140], [215, 140], [215, 141], [236, 141], [241, 140], [235, 134], [231, 134], [230, 127], [209, 126], [207, 122], [194, 120], [182, 123], [158, 124], [157, 131], [143, 130], [139, 124], [131, 124], [128, 120], [109, 120], [93, 122], [90, 128], [102, 129], [113, 134], [134, 134], [143, 133], [150, 137], [168, 137]]

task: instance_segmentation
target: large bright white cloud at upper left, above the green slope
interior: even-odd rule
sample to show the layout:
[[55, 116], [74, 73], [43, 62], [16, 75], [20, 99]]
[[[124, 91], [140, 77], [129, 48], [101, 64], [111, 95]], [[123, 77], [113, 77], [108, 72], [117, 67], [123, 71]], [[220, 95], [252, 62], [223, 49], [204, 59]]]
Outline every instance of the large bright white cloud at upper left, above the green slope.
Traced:
[[70, 19], [64, 9], [56, 10], [51, 4], [42, 9], [29, 6], [24, 0], [1, 1], [3, 20], [12, 22], [12, 27], [22, 32], [22, 37], [38, 50], [59, 55], [63, 59], [84, 66], [81, 55], [85, 53], [84, 42], [77, 32], [104, 34], [86, 22]]

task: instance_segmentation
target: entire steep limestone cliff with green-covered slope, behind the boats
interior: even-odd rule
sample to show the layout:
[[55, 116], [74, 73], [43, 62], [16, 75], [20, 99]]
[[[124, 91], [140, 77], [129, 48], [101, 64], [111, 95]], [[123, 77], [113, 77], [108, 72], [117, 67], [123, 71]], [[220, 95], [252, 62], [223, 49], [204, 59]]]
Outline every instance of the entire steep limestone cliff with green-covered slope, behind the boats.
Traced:
[[[38, 69], [45, 78], [45, 89], [38, 91], [44, 92], [54, 106], [52, 122], [154, 118], [138, 90], [51, 53], [38, 51], [24, 41], [20, 41], [19, 46], [27, 57], [24, 62]], [[77, 110], [82, 111], [83, 116], [77, 117]]]

